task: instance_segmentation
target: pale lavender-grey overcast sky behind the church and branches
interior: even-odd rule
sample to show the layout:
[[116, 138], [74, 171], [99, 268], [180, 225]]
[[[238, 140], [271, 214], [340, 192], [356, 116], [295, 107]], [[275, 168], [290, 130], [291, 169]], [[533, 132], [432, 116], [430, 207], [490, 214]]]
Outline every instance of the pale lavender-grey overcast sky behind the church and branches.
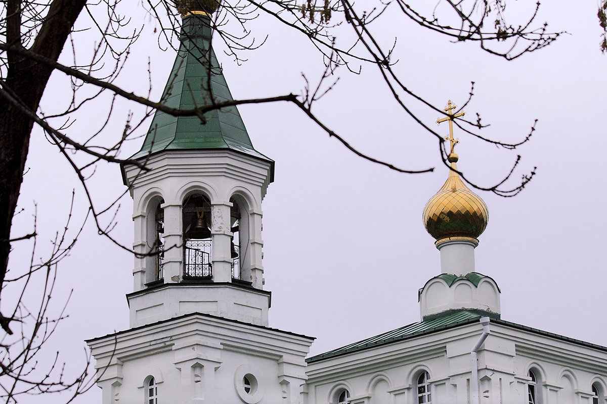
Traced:
[[[515, 13], [519, 3], [509, 2], [508, 11]], [[484, 123], [492, 124], [487, 136], [518, 141], [538, 119], [532, 141], [514, 152], [456, 131], [458, 167], [480, 185], [500, 180], [517, 153], [523, 156], [517, 178], [538, 167], [535, 179], [514, 198], [479, 193], [489, 208], [489, 225], [476, 248], [476, 270], [500, 286], [503, 319], [607, 345], [601, 239], [607, 228], [602, 161], [607, 56], [600, 54], [596, 13], [596, 0], [545, 2], [538, 24], [548, 21], [549, 28], [568, 35], [512, 62], [476, 44], [452, 44], [412, 23], [402, 24], [391, 13], [376, 28], [386, 47], [398, 38], [394, 68], [405, 84], [436, 105], [447, 99], [462, 104], [475, 81], [476, 96], [466, 113], [479, 112]], [[322, 73], [322, 61], [305, 39], [267, 21], [256, 24], [270, 36], [262, 48], [246, 54], [245, 64], [238, 66], [217, 50], [234, 98], [299, 93], [304, 85], [300, 73], [310, 78]], [[140, 64], [131, 67], [124, 82], [144, 76], [150, 54], [158, 97], [174, 52], [158, 51], [154, 37], [148, 39], [138, 44], [133, 58]], [[437, 142], [399, 109], [376, 68], [363, 67], [361, 75], [342, 68], [336, 75], [341, 80], [316, 105], [331, 129], [399, 167], [436, 170], [407, 175], [366, 162], [288, 104], [240, 108], [256, 149], [276, 161], [276, 179], [263, 201], [265, 288], [273, 293], [270, 326], [317, 337], [313, 354], [418, 321], [418, 289], [440, 273], [439, 253], [421, 220], [424, 204], [447, 177]], [[61, 96], [65, 83], [60, 78], [55, 83], [43, 108]], [[438, 118], [412, 105], [427, 123]], [[81, 116], [83, 128], [87, 113], [94, 111]], [[447, 134], [446, 125], [439, 129]], [[132, 142], [121, 156], [140, 144]], [[84, 199], [75, 176], [38, 129], [27, 167], [19, 200], [26, 212], [15, 234], [29, 230], [35, 200], [39, 227], [46, 231], [39, 243], [47, 245], [51, 231], [63, 226], [72, 188], [80, 195], [80, 215]], [[93, 181], [101, 199], [124, 191], [117, 166], [100, 167]], [[125, 245], [132, 243], [131, 202], [122, 200], [115, 232]], [[25, 262], [26, 251], [13, 254], [12, 265]], [[128, 328], [124, 294], [132, 291], [132, 267], [132, 256], [91, 226], [61, 262], [56, 307], [69, 290], [73, 294], [69, 318], [49, 348], [59, 351], [68, 371], [86, 360], [84, 339]], [[93, 387], [76, 402], [100, 399], [100, 389]], [[41, 400], [61, 403], [63, 397], [31, 402]]]

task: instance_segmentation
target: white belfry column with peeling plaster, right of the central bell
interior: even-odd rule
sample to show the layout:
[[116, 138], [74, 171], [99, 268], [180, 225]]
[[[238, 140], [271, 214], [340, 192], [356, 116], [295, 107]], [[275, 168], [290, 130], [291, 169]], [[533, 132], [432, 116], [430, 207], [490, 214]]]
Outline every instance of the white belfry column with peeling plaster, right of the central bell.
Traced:
[[232, 257], [230, 240], [232, 236], [229, 208], [230, 202], [216, 202], [211, 205], [211, 234], [213, 282], [231, 282]]

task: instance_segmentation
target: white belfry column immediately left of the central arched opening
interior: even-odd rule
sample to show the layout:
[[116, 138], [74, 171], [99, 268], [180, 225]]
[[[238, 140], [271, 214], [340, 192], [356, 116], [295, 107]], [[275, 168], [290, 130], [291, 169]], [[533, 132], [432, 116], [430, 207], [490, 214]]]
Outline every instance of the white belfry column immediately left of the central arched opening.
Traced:
[[164, 283], [180, 282], [183, 271], [181, 204], [163, 204], [164, 209]]

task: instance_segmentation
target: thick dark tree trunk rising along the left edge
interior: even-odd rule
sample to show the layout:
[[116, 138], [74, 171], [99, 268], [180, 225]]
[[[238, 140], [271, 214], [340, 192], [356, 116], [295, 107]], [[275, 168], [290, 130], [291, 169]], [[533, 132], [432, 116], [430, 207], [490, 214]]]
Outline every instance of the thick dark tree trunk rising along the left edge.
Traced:
[[[7, 8], [18, 10], [18, 0], [9, 0]], [[30, 50], [57, 61], [66, 43], [67, 36], [78, 15], [83, 10], [86, 0], [54, 0], [49, 7], [46, 21], [42, 24]], [[14, 15], [14, 13], [13, 13]], [[21, 46], [20, 38], [8, 38], [19, 35], [20, 17], [14, 17], [9, 25], [7, 45]], [[19, 198], [23, 180], [23, 170], [30, 144], [33, 121], [24, 114], [24, 108], [36, 113], [53, 69], [47, 65], [31, 61], [24, 56], [16, 55], [10, 50], [8, 56], [8, 73], [2, 88], [10, 93], [20, 105], [0, 96], [0, 288], [4, 283], [10, 253], [10, 228]], [[2, 328], [7, 329], [7, 321], [1, 321]]]

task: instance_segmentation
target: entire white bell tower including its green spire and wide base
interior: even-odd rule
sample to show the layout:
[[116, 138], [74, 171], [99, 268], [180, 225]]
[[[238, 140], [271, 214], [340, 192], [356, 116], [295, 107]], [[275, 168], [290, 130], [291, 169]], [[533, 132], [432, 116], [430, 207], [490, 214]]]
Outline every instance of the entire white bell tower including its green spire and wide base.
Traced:
[[[163, 102], [232, 101], [211, 48], [213, 1], [185, 4]], [[236, 107], [157, 111], [137, 165], [130, 329], [88, 340], [103, 404], [299, 404], [313, 338], [268, 328], [262, 199], [274, 162], [253, 148]]]

